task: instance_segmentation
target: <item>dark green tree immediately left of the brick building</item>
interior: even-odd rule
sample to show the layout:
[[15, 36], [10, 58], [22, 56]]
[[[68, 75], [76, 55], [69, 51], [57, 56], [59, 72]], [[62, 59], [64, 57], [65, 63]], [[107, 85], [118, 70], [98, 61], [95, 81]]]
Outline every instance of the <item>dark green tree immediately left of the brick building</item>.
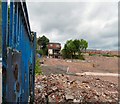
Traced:
[[47, 48], [48, 43], [49, 43], [49, 39], [47, 37], [45, 37], [44, 35], [37, 39], [37, 44], [39, 45], [39, 47], [43, 53], [42, 55], [48, 54], [48, 48]]

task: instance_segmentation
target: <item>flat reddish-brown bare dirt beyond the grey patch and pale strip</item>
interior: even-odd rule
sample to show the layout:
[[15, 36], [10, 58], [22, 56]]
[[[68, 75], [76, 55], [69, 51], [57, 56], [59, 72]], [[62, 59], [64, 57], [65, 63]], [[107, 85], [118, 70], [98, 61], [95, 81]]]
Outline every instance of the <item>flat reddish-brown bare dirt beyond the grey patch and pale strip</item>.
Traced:
[[117, 57], [86, 56], [85, 60], [44, 59], [48, 66], [69, 67], [70, 72], [110, 72], [118, 73]]

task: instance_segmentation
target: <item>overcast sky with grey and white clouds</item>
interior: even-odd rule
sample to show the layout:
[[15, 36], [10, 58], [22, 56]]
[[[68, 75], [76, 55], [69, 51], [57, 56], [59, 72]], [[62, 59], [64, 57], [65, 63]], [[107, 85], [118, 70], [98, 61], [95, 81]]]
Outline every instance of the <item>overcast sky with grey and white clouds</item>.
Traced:
[[31, 29], [62, 47], [85, 39], [90, 49], [118, 48], [117, 2], [27, 2]]

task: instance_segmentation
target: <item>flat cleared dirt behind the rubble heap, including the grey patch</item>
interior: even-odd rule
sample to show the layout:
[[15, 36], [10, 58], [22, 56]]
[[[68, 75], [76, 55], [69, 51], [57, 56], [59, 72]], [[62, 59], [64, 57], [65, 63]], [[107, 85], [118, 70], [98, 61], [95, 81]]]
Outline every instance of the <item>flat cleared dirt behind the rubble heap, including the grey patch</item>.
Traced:
[[[71, 77], [77, 78], [75, 73], [95, 72], [118, 74], [118, 58], [103, 56], [86, 56], [85, 60], [63, 60], [54, 58], [42, 59], [42, 71], [45, 75], [53, 74], [69, 74]], [[118, 76], [97, 76], [103, 80], [107, 80], [118, 84]], [[79, 78], [79, 77], [78, 77]]]

